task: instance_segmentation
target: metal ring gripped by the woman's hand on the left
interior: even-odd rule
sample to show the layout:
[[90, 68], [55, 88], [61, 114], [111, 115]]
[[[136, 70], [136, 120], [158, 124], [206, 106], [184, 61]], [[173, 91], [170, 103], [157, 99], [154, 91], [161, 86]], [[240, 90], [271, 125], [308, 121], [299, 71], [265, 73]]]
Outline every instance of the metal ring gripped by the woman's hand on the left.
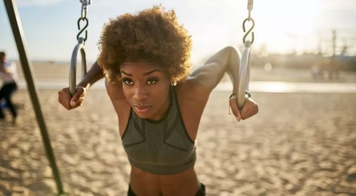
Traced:
[[72, 57], [70, 59], [70, 67], [69, 67], [69, 91], [70, 94], [73, 96], [77, 91], [77, 56], [80, 50], [82, 56], [82, 79], [87, 74], [87, 58], [84, 48], [84, 38], [78, 39], [78, 44], [74, 47], [72, 52]]

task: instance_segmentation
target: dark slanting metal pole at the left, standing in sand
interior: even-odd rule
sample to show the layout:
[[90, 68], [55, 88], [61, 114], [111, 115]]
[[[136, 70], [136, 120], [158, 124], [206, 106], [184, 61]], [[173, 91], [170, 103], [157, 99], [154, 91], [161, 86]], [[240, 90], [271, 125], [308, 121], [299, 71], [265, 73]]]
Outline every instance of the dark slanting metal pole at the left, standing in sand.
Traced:
[[15, 3], [15, 0], [3, 0], [7, 12], [7, 16], [9, 17], [10, 25], [12, 28], [12, 33], [15, 38], [16, 46], [19, 52], [20, 60], [21, 60], [21, 65], [22, 65], [22, 71], [25, 76], [26, 82], [27, 82], [27, 89], [31, 97], [32, 105], [33, 108], [35, 109], [36, 113], [36, 118], [38, 125], [40, 126], [41, 130], [41, 135], [42, 135], [42, 140], [45, 146], [45, 151], [47, 154], [47, 158], [49, 161], [49, 164], [52, 168], [52, 174], [54, 177], [54, 180], [56, 181], [57, 184], [57, 189], [58, 189], [58, 195], [64, 194], [63, 191], [63, 185], [61, 181], [61, 177], [56, 165], [56, 160], [53, 155], [53, 150], [50, 144], [46, 124], [45, 124], [45, 119], [43, 117], [42, 111], [41, 111], [41, 105], [37, 96], [37, 90], [35, 88], [35, 82], [34, 78], [32, 77], [32, 65], [28, 61], [27, 58], [27, 52], [26, 52], [26, 47], [25, 47], [25, 42], [24, 42], [24, 36], [23, 36], [23, 30], [22, 30], [22, 25], [21, 25], [21, 20], [20, 16], [17, 10], [17, 6]]

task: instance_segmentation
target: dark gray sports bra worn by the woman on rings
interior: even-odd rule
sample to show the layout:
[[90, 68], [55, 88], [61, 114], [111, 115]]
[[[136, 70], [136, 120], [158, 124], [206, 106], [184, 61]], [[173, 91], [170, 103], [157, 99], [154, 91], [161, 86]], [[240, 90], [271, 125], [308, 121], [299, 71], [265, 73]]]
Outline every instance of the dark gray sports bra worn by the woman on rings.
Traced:
[[131, 108], [121, 139], [129, 162], [145, 172], [175, 174], [191, 168], [196, 161], [196, 144], [184, 126], [174, 87], [168, 110], [159, 121], [141, 119]]

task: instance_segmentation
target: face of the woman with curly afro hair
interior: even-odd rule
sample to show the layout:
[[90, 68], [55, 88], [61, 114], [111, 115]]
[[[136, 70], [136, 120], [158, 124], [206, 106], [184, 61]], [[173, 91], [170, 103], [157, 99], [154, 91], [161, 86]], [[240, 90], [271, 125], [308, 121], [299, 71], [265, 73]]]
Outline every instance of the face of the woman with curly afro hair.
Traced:
[[137, 116], [161, 119], [169, 105], [168, 75], [158, 65], [146, 62], [125, 62], [120, 71], [124, 95]]

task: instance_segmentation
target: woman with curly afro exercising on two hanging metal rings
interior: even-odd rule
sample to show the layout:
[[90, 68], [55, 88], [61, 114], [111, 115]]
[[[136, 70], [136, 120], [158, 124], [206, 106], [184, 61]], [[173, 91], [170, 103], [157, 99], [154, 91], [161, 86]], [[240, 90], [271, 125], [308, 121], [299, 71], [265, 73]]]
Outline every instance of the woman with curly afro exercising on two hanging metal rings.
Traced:
[[[129, 196], [204, 196], [194, 170], [198, 126], [211, 91], [229, 73], [237, 92], [239, 53], [227, 47], [195, 70], [191, 39], [173, 10], [160, 6], [124, 14], [104, 26], [97, 63], [59, 102], [68, 110], [83, 103], [86, 89], [103, 77], [119, 119], [119, 134], [132, 166]], [[227, 99], [227, 98], [226, 98]], [[258, 112], [248, 98], [230, 107], [237, 120]]]

